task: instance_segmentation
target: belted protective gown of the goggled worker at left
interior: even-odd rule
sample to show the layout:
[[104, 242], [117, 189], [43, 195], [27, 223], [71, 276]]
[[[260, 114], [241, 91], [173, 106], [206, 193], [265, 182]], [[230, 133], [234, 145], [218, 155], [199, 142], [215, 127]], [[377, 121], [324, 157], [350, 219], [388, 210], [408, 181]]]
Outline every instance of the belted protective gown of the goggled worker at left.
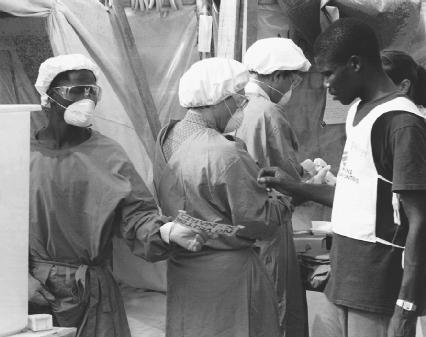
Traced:
[[110, 272], [112, 236], [133, 252], [167, 256], [159, 235], [166, 221], [123, 149], [92, 131], [66, 150], [31, 143], [30, 272], [55, 296], [60, 326], [78, 336], [130, 337], [123, 302]]

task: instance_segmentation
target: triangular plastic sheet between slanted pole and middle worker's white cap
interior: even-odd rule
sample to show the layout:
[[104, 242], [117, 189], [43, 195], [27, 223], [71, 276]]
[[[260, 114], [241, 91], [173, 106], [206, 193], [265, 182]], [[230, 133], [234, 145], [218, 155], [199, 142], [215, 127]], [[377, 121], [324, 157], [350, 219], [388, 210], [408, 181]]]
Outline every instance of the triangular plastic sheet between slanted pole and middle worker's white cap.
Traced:
[[180, 119], [178, 86], [183, 73], [199, 59], [195, 6], [179, 11], [140, 12], [126, 8], [160, 121]]

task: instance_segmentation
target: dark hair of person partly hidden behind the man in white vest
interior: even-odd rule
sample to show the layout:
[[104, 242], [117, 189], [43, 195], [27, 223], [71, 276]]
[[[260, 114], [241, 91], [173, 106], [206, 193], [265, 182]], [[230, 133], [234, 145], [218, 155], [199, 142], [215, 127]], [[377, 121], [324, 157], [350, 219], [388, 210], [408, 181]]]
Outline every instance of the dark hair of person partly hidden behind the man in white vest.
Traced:
[[426, 70], [407, 53], [384, 50], [381, 53], [383, 69], [395, 84], [408, 79], [411, 82], [411, 98], [417, 105], [426, 106]]

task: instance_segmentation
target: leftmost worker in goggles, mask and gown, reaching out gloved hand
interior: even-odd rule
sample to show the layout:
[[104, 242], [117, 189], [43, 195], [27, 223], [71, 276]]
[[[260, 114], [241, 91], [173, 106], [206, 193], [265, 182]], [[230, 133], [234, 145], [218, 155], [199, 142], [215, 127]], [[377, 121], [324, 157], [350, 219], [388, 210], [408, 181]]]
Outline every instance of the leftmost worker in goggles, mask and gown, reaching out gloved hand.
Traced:
[[[111, 274], [112, 236], [133, 252], [166, 258], [167, 223], [125, 151], [90, 128], [101, 88], [97, 66], [83, 55], [41, 64], [36, 89], [48, 125], [31, 142], [30, 304], [47, 305], [55, 324], [80, 337], [130, 337]], [[170, 243], [197, 249], [196, 234], [168, 223]], [[201, 243], [201, 242], [200, 242]]]

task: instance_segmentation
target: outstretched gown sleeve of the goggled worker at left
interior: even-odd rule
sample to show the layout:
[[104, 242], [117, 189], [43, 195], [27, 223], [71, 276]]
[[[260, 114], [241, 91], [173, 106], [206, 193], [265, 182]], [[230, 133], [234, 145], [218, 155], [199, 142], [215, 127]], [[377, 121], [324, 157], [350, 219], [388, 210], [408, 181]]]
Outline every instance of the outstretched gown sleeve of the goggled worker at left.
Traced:
[[160, 227], [170, 219], [159, 215], [154, 197], [130, 161], [122, 165], [119, 174], [130, 185], [120, 203], [122, 237], [133, 254], [152, 262], [166, 259], [170, 246], [161, 239]]

